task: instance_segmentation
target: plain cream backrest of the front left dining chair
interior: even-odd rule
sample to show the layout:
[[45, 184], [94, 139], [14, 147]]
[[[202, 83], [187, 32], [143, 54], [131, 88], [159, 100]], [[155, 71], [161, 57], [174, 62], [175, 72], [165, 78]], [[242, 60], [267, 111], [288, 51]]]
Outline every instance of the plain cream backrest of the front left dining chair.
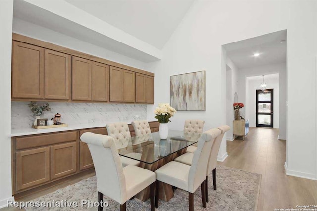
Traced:
[[125, 176], [114, 139], [108, 135], [85, 132], [80, 140], [88, 144], [93, 158], [97, 190], [120, 204], [125, 203]]

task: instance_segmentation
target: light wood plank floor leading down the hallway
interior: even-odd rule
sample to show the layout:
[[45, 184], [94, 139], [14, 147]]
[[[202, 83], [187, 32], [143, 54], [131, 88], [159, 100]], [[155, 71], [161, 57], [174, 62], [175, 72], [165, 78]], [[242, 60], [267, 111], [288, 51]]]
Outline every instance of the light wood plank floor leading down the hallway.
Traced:
[[[286, 141], [278, 140], [277, 135], [278, 129], [251, 127], [245, 141], [242, 139], [227, 141], [229, 156], [218, 164], [262, 174], [258, 211], [296, 208], [296, 205], [317, 205], [317, 181], [285, 174]], [[18, 201], [30, 201], [93, 175], [92, 173], [67, 181]], [[3, 208], [1, 211], [20, 211], [20, 209]]]

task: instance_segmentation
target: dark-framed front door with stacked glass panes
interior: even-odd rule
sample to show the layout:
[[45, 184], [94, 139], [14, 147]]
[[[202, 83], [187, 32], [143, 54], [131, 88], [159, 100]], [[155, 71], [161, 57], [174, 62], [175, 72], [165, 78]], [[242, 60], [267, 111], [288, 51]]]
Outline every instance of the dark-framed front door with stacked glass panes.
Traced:
[[273, 127], [273, 89], [256, 93], [256, 127]]

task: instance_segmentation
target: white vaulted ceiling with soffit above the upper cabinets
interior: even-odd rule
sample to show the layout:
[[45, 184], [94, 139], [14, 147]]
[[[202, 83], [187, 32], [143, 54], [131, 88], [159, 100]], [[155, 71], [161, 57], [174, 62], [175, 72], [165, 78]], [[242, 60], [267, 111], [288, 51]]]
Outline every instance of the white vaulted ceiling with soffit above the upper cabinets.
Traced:
[[[193, 0], [14, 0], [13, 20], [142, 62], [153, 62], [162, 58], [162, 48], [192, 3]], [[13, 21], [17, 33], [14, 23], [18, 22]]]

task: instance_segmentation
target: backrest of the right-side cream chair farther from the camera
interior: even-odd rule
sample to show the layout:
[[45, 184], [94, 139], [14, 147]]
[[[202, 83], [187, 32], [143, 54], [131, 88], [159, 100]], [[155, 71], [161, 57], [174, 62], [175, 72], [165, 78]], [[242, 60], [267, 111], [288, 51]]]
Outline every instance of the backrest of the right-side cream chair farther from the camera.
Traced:
[[218, 157], [221, 141], [223, 139], [224, 133], [226, 133], [230, 129], [230, 127], [227, 125], [223, 125], [223, 126], [218, 127], [217, 129], [220, 130], [221, 134], [214, 139], [214, 144], [212, 145], [211, 153], [209, 156], [207, 175], [209, 175], [209, 173], [214, 168], [217, 167], [217, 157]]

